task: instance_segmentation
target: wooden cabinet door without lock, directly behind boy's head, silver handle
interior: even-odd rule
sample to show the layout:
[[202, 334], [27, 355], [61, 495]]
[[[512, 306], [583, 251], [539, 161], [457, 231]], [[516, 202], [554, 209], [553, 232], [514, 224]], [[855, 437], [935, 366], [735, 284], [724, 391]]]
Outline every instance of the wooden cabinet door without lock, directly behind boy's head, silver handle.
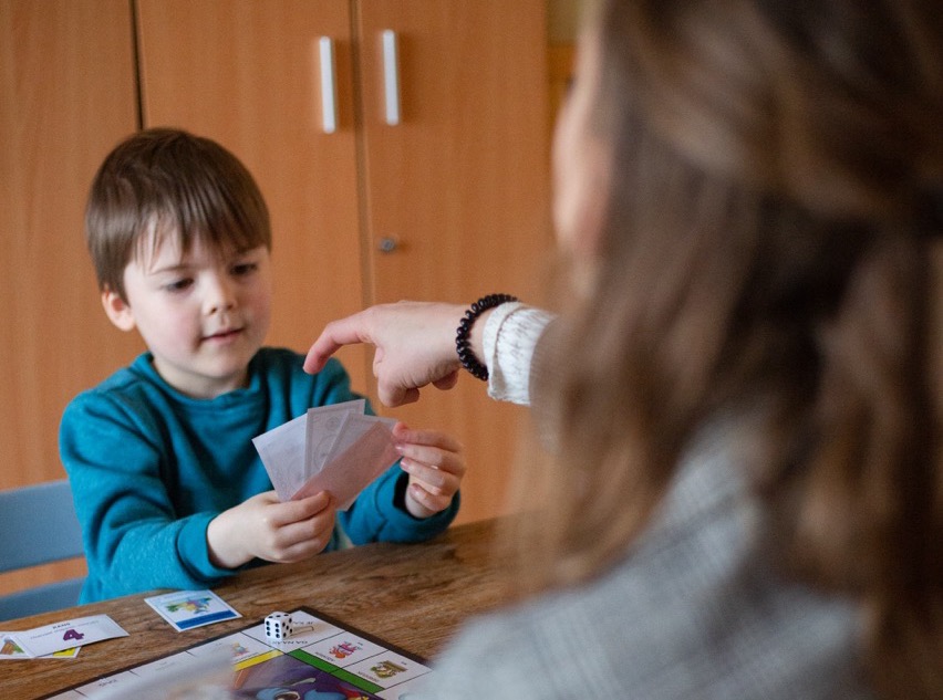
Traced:
[[[305, 352], [363, 307], [348, 0], [139, 0], [145, 126], [177, 126], [235, 153], [272, 219], [268, 344]], [[336, 130], [324, 133], [320, 39], [331, 40]], [[364, 348], [340, 357], [365, 387]]]

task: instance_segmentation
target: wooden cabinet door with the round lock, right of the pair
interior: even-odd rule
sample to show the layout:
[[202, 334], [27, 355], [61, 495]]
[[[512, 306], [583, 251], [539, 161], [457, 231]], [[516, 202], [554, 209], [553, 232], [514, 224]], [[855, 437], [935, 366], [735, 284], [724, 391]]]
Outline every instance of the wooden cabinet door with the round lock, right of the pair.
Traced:
[[[546, 2], [357, 7], [374, 301], [537, 300], [549, 243]], [[398, 54], [394, 125], [387, 32]], [[491, 401], [463, 373], [456, 389], [426, 389], [395, 415], [466, 446], [462, 520], [498, 511], [524, 409]]]

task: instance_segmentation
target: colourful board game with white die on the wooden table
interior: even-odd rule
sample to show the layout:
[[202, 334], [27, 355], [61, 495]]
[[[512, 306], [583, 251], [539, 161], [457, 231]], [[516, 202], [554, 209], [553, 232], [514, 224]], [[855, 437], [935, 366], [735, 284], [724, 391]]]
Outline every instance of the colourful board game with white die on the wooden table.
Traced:
[[228, 686], [228, 692], [199, 697], [403, 700], [432, 671], [425, 659], [312, 608], [298, 608], [290, 616], [294, 631], [281, 640], [267, 636], [265, 623], [258, 620], [238, 631], [45, 698], [144, 698], [149, 697], [148, 689], [157, 688], [166, 693], [184, 683], [186, 669], [199, 667], [200, 659], [211, 658], [231, 660], [225, 661], [221, 681]]

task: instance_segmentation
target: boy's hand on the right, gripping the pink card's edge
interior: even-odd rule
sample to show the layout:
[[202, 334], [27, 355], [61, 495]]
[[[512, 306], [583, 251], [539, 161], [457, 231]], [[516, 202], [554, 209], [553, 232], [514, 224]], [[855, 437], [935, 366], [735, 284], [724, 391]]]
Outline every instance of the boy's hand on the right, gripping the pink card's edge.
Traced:
[[428, 518], [452, 503], [465, 476], [463, 447], [452, 436], [435, 430], [410, 430], [403, 424], [393, 428], [400, 462], [410, 474], [406, 510], [414, 518]]

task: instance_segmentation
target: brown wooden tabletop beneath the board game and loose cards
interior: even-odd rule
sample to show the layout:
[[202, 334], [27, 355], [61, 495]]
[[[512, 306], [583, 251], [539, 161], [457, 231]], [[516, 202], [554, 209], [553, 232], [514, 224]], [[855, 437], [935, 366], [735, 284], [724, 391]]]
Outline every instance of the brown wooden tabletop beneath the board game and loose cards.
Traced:
[[3, 623], [15, 631], [105, 614], [129, 636], [89, 645], [72, 660], [0, 661], [0, 698], [40, 698], [301, 606], [431, 658], [469, 615], [506, 599], [497, 526], [480, 521], [422, 544], [369, 544], [247, 571], [214, 588], [242, 618], [183, 633], [144, 603], [156, 591]]

